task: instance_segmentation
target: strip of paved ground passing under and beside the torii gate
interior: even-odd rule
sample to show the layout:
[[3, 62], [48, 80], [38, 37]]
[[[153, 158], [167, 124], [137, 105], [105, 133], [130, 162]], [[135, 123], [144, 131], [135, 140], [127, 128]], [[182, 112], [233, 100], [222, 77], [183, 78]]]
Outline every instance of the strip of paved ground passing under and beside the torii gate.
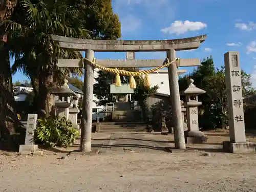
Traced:
[[[189, 144], [187, 150], [219, 152], [222, 148], [222, 141], [227, 140], [223, 137], [216, 143], [212, 138], [207, 144]], [[212, 140], [212, 141], [211, 141]], [[72, 146], [73, 150], [78, 150], [80, 146], [80, 138]], [[136, 151], [136, 152], [173, 152], [175, 148], [174, 135], [159, 134], [138, 134], [138, 133], [94, 133], [92, 135], [92, 148], [94, 151], [100, 152], [120, 152], [120, 151]]]

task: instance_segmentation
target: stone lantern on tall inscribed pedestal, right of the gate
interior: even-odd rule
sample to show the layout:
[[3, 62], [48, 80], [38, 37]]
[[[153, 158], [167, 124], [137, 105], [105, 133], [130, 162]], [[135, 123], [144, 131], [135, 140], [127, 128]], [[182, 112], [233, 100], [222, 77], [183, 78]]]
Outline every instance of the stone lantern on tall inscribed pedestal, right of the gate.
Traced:
[[204, 136], [203, 132], [199, 131], [198, 106], [201, 105], [202, 102], [198, 101], [198, 95], [204, 94], [205, 91], [197, 88], [193, 82], [194, 80], [190, 79], [188, 88], [183, 91], [183, 94], [186, 96], [184, 106], [186, 107], [187, 116], [185, 140], [186, 143], [204, 143], [207, 141], [207, 137]]

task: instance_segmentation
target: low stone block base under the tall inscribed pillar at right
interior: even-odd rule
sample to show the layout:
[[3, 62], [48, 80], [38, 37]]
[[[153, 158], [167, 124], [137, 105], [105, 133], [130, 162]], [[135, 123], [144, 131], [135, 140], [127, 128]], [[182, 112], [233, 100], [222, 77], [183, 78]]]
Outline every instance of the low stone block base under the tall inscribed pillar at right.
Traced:
[[227, 153], [255, 153], [256, 143], [231, 143], [230, 141], [223, 141], [223, 151]]

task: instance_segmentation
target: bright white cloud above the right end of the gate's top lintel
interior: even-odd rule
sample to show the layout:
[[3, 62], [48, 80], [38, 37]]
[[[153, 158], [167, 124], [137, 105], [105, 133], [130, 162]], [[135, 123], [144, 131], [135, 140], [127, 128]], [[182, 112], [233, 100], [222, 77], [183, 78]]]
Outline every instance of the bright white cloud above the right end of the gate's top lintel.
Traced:
[[184, 34], [188, 31], [199, 31], [206, 27], [207, 25], [202, 22], [189, 22], [189, 20], [185, 20], [185, 22], [183, 23], [182, 20], [176, 20], [170, 25], [170, 27], [161, 29], [161, 32], [169, 34], [176, 33], [177, 35], [179, 35]]

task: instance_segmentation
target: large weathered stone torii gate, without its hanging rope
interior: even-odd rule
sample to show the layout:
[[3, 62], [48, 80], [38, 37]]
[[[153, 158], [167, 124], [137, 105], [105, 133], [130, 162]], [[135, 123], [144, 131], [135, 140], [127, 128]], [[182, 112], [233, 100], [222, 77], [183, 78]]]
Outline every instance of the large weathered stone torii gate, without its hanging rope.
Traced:
[[[166, 51], [169, 61], [176, 59], [176, 51], [197, 49], [206, 39], [206, 35], [174, 40], [91, 40], [62, 37], [52, 35], [54, 41], [63, 49], [86, 51], [86, 58], [93, 61], [94, 52], [126, 52], [127, 59], [96, 60], [98, 65], [109, 68], [134, 67], [148, 68], [163, 65], [163, 60], [135, 59], [135, 52]], [[81, 127], [80, 151], [91, 151], [92, 134], [92, 104], [93, 104], [93, 66], [87, 60], [59, 59], [58, 67], [83, 67], [84, 68], [84, 100]], [[200, 59], [180, 59], [180, 67], [199, 66]], [[175, 147], [185, 150], [185, 138], [183, 129], [182, 112], [180, 105], [180, 92], [178, 84], [176, 62], [168, 67], [170, 100], [174, 118]], [[83, 144], [84, 143], [84, 144]]]

